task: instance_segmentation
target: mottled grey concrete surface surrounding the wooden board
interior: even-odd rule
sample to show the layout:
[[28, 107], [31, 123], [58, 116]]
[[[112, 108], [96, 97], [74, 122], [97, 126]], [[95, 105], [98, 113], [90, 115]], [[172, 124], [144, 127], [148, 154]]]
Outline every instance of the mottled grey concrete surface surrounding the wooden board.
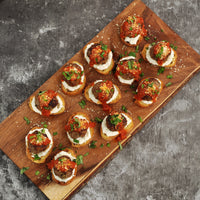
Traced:
[[[199, 0], [143, 2], [200, 52]], [[129, 3], [0, 1], [0, 121]], [[199, 105], [197, 74], [72, 199], [199, 200]], [[0, 200], [16, 199], [47, 198], [0, 152]]]

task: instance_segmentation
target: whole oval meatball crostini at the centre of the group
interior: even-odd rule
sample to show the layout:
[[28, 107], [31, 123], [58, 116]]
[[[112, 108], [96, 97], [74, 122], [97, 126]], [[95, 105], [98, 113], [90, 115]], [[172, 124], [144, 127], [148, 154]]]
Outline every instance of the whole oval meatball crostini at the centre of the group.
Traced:
[[121, 99], [119, 88], [109, 80], [96, 80], [85, 88], [85, 98], [96, 104], [113, 104]]

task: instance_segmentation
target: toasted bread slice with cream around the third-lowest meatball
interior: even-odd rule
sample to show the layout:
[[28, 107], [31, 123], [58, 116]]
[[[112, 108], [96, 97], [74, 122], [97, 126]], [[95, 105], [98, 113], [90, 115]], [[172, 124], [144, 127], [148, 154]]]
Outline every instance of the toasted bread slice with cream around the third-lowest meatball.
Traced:
[[[68, 122], [69, 122], [70, 120], [72, 120], [73, 117], [75, 117], [75, 116], [81, 116], [81, 118], [85, 118], [85, 119], [88, 121], [88, 123], [90, 123], [90, 118], [89, 118], [89, 116], [88, 116], [87, 114], [83, 113], [83, 112], [76, 112], [76, 113], [74, 113], [73, 115], [71, 115], [71, 116], [69, 117]], [[72, 144], [73, 147], [82, 147], [82, 146], [85, 146], [85, 145], [87, 145], [87, 144], [90, 143], [90, 141], [92, 140], [92, 138], [93, 138], [93, 136], [94, 136], [94, 128], [93, 128], [93, 127], [88, 127], [88, 129], [89, 129], [89, 131], [90, 131], [90, 134], [87, 132], [86, 135], [88, 134], [88, 135], [87, 135], [88, 137], [85, 135], [85, 136], [84, 136], [85, 139], [83, 139], [84, 142], [81, 142], [81, 143], [74, 142], [73, 138], [71, 138], [70, 135], [69, 135], [69, 133], [66, 131], [67, 137], [68, 137], [68, 139], [69, 139], [69, 141], [71, 142], [71, 144]], [[89, 137], [89, 135], [90, 135], [90, 137]], [[83, 137], [83, 138], [84, 138], [84, 137]], [[77, 140], [79, 141], [80, 139], [77, 138]]]

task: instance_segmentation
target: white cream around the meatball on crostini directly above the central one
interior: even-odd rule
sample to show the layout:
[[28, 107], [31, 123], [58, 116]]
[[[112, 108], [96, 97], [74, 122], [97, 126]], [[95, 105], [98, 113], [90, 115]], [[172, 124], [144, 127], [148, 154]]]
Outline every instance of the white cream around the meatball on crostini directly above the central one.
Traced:
[[[85, 51], [84, 51], [84, 57], [85, 57], [86, 61], [88, 62], [88, 64], [90, 63], [90, 58], [88, 57], [87, 52], [88, 52], [88, 49], [89, 49], [93, 44], [94, 44], [94, 43], [88, 44], [87, 47], [86, 47], [86, 49], [85, 49]], [[94, 64], [93, 67], [94, 67], [95, 69], [98, 69], [98, 70], [105, 70], [105, 69], [107, 69], [107, 68], [111, 65], [111, 63], [112, 63], [112, 58], [113, 58], [113, 53], [112, 53], [112, 51], [110, 51], [109, 54], [108, 54], [108, 60], [106, 61], [105, 64]]]

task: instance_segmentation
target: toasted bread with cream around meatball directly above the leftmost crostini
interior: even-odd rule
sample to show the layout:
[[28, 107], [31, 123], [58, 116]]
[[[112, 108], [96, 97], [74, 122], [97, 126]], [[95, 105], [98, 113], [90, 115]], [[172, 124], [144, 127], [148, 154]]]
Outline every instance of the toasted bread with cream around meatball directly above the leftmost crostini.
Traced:
[[[29, 105], [29, 107], [30, 107], [30, 109], [31, 109], [32, 111], [34, 111], [34, 112], [36, 112], [36, 113], [42, 115], [41, 110], [39, 110], [39, 109], [36, 107], [36, 105], [35, 105], [35, 98], [36, 98], [36, 96], [35, 96], [34, 94], [31, 95], [30, 98], [29, 98], [28, 105]], [[59, 107], [59, 109], [56, 110], [56, 109], [55, 109], [56, 107], [53, 108], [53, 109], [50, 111], [50, 115], [59, 115], [59, 114], [61, 114], [61, 113], [63, 113], [63, 112], [65, 111], [65, 100], [64, 100], [64, 98], [62, 97], [62, 95], [59, 94], [59, 93], [57, 93], [56, 98], [57, 98], [57, 100], [58, 100], [58, 105], [57, 105], [56, 107]], [[54, 109], [55, 109], [55, 110], [54, 110]], [[54, 110], [55, 112], [54, 112], [53, 110]]]

